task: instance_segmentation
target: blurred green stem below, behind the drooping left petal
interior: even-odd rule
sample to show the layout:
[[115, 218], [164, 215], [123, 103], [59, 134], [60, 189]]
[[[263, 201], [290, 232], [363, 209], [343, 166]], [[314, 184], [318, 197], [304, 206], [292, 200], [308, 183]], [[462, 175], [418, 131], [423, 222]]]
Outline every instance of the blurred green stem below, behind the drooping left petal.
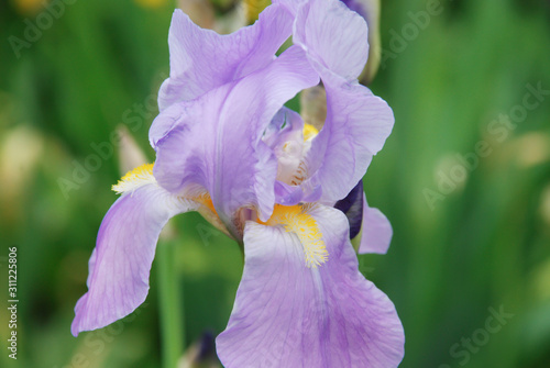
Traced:
[[158, 308], [163, 367], [175, 368], [185, 346], [182, 278], [174, 267], [174, 245], [161, 239], [157, 246]]

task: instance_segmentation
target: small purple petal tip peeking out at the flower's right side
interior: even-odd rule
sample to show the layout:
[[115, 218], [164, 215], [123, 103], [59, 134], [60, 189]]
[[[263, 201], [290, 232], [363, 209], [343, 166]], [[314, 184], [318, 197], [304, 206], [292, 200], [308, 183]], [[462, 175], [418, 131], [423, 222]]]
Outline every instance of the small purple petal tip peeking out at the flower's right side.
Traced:
[[394, 231], [387, 218], [378, 209], [370, 208], [363, 193], [363, 226], [359, 253], [386, 254]]

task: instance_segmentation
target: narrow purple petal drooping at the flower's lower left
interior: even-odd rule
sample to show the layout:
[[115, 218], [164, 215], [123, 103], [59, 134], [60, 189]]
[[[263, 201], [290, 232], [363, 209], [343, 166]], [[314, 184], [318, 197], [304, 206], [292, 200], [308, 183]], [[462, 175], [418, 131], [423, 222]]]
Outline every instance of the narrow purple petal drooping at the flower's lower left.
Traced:
[[161, 230], [169, 218], [197, 209], [197, 203], [156, 183], [125, 192], [114, 202], [99, 228], [88, 292], [76, 304], [73, 335], [107, 326], [143, 303]]

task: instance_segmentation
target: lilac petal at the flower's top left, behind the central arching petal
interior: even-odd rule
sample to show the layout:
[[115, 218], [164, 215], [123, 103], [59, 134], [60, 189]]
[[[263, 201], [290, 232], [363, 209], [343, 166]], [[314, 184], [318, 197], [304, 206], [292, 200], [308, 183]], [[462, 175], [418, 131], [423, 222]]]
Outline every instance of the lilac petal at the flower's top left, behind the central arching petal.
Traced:
[[220, 35], [176, 9], [168, 36], [170, 77], [158, 93], [161, 111], [267, 66], [290, 36], [292, 22], [284, 7], [272, 5], [255, 24]]

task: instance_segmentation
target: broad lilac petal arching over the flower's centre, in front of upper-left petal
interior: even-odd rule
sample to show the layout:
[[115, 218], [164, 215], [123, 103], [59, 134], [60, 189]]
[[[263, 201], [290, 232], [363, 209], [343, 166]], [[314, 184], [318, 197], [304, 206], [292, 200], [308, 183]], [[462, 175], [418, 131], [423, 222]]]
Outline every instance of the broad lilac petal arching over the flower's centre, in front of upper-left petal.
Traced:
[[170, 107], [154, 122], [165, 132], [152, 129], [158, 182], [174, 193], [202, 186], [228, 227], [242, 207], [267, 220], [277, 166], [262, 135], [286, 101], [318, 81], [304, 52], [290, 47], [262, 70]]

